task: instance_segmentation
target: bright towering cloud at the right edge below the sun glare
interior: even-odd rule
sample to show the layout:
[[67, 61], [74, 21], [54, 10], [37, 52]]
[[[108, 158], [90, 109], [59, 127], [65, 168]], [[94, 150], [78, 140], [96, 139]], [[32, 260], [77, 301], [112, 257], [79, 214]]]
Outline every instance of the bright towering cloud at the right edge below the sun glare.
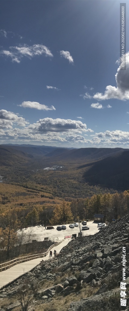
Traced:
[[107, 100], [107, 99], [129, 99], [129, 52], [126, 53], [126, 70], [120, 70], [122, 64], [120, 64], [115, 74], [117, 87], [108, 85], [106, 86], [105, 93], [96, 93], [93, 95], [94, 99]]

